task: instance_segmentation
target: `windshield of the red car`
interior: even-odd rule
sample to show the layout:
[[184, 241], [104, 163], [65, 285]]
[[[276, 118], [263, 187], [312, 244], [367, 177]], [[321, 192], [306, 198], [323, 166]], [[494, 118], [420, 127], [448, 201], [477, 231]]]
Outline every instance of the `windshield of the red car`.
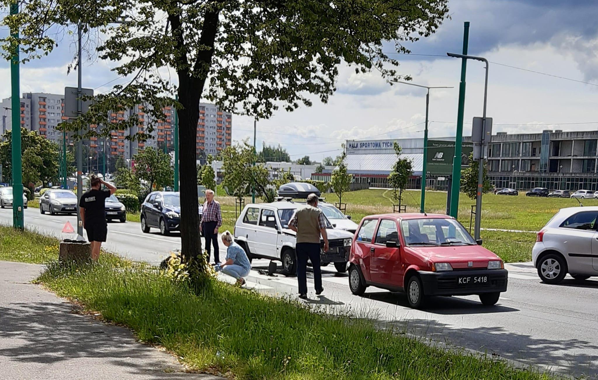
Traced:
[[407, 246], [475, 245], [461, 223], [454, 219], [408, 219], [401, 221]]

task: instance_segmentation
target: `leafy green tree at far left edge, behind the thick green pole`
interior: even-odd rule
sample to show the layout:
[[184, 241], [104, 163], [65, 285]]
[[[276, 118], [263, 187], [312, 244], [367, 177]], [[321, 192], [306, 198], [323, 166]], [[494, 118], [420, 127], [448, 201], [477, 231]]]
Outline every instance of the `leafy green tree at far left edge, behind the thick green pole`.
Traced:
[[[12, 131], [5, 131], [2, 136], [3, 141], [0, 143], [0, 164], [6, 182], [12, 182], [12, 136]], [[58, 178], [60, 164], [56, 144], [39, 136], [35, 131], [21, 128], [21, 149], [25, 187], [29, 187], [29, 183], [35, 184], [40, 181], [42, 185], [47, 185], [48, 182]]]

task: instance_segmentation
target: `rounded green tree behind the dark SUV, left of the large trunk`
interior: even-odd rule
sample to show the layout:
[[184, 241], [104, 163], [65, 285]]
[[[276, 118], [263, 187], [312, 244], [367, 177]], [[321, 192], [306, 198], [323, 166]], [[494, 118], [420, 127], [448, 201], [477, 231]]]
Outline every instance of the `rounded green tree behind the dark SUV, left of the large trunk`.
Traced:
[[[170, 166], [170, 156], [154, 148], [145, 148], [133, 156], [135, 161], [135, 175], [147, 186], [148, 191], [172, 186], [173, 170]], [[197, 187], [195, 188], [197, 197]]]

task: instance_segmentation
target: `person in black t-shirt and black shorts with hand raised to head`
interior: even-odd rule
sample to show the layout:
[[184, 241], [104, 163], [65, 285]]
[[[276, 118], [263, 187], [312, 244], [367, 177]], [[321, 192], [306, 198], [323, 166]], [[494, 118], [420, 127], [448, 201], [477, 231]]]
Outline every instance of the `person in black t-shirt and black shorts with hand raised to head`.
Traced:
[[[116, 192], [116, 188], [95, 175], [91, 176], [90, 181], [91, 190], [81, 195], [79, 209], [83, 228], [87, 231], [87, 240], [91, 243], [91, 259], [97, 261], [100, 257], [100, 246], [108, 235], [105, 201]], [[105, 185], [107, 189], [100, 190], [100, 185]]]

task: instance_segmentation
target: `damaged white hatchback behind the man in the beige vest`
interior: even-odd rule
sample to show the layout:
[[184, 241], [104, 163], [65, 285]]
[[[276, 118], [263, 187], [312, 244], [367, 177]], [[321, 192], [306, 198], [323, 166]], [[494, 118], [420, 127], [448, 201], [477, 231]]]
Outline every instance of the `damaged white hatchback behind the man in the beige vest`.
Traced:
[[[301, 204], [281, 201], [248, 204], [234, 225], [234, 240], [245, 249], [249, 259], [264, 258], [282, 262], [287, 273], [295, 274], [295, 232], [289, 220]], [[321, 252], [322, 265], [334, 263], [338, 272], [347, 270], [353, 234], [332, 228], [328, 222], [328, 252]], [[324, 242], [321, 242], [324, 246]]]

